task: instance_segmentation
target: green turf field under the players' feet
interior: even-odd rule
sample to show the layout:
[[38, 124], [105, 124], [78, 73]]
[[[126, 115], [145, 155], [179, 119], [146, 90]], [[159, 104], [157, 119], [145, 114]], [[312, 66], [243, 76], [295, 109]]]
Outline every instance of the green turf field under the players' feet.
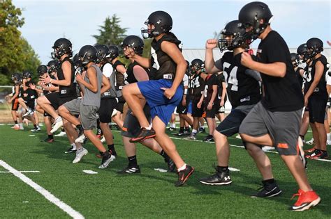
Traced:
[[[91, 143], [85, 146], [89, 154], [80, 163], [73, 164], [74, 154], [64, 154], [68, 149], [66, 137], [56, 138], [55, 143], [41, 143], [45, 132], [27, 130], [0, 126], [0, 160], [19, 171], [40, 171], [24, 175], [85, 218], [331, 218], [330, 162], [308, 163], [309, 180], [321, 195], [321, 204], [311, 211], [290, 212], [287, 208], [294, 202], [290, 197], [296, 193], [297, 185], [278, 154], [268, 153], [282, 195], [254, 199], [250, 195], [260, 187], [260, 175], [240, 147], [231, 147], [230, 167], [240, 170], [231, 173], [233, 184], [206, 186], [198, 179], [214, 172], [214, 144], [174, 140], [186, 163], [196, 168], [187, 184], [177, 188], [173, 186], [177, 175], [154, 170], [166, 169], [166, 163], [142, 145], [138, 145], [142, 173], [117, 175], [117, 171], [127, 165], [118, 132], [115, 132], [115, 147], [119, 156], [107, 169], [99, 170], [101, 161], [96, 158], [97, 152]], [[199, 138], [204, 136], [200, 134]], [[236, 138], [230, 138], [230, 144], [242, 145]], [[82, 170], [98, 174], [88, 175]], [[70, 217], [1, 166], [0, 171], [0, 218]]]

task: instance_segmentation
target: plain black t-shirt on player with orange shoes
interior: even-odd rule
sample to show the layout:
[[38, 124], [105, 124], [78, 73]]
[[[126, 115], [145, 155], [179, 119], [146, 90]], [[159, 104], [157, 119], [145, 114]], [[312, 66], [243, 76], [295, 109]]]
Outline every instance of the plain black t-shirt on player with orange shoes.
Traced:
[[304, 98], [294, 68], [290, 60], [290, 51], [281, 35], [270, 31], [258, 45], [258, 61], [260, 63], [285, 63], [286, 74], [283, 78], [261, 73], [265, 91], [261, 103], [267, 110], [297, 111], [304, 106]]

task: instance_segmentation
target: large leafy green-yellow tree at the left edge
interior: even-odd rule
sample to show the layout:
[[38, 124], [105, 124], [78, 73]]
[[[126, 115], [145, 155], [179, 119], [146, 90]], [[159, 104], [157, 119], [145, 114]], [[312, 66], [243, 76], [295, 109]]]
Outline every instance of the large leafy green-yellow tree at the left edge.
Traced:
[[41, 64], [29, 42], [18, 28], [24, 24], [22, 10], [11, 0], [0, 0], [0, 85], [8, 85], [14, 72], [36, 72]]

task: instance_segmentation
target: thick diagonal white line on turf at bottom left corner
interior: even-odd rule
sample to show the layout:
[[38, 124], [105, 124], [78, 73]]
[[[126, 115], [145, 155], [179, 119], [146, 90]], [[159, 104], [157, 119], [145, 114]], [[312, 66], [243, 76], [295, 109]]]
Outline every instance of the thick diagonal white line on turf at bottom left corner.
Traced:
[[20, 178], [22, 181], [24, 181], [24, 183], [26, 183], [29, 186], [31, 186], [32, 188], [34, 188], [34, 190], [36, 190], [38, 193], [41, 193], [41, 195], [43, 195], [43, 197], [45, 197], [47, 200], [49, 200], [50, 202], [52, 202], [53, 204], [58, 206], [64, 212], [68, 213], [68, 215], [71, 216], [72, 218], [77, 218], [77, 219], [84, 218], [84, 216], [82, 216], [78, 211], [75, 211], [71, 206], [68, 206], [68, 204], [59, 200], [57, 197], [52, 195], [52, 193], [45, 190], [45, 188], [39, 186], [38, 184], [36, 184], [34, 181], [32, 181], [29, 177], [22, 174], [20, 171], [12, 168], [5, 161], [0, 160], [0, 165], [2, 165], [3, 168], [8, 170], [9, 172], [13, 173], [13, 175], [15, 175], [15, 177]]

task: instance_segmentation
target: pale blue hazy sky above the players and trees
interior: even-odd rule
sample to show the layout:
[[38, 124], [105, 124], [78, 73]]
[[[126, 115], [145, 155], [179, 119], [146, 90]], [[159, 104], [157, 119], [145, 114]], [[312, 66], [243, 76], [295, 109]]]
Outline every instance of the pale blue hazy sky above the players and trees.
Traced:
[[[105, 18], [117, 15], [121, 26], [128, 28], [127, 35], [141, 36], [140, 29], [150, 13], [164, 10], [172, 16], [172, 32], [182, 41], [184, 49], [203, 49], [226, 23], [237, 15], [250, 1], [92, 1], [92, 0], [13, 0], [22, 8], [25, 24], [20, 28], [38, 54], [41, 62], [50, 60], [52, 45], [58, 38], [66, 37], [78, 52], [85, 44], [95, 44], [92, 35], [98, 35]], [[330, 0], [263, 1], [268, 4], [274, 19], [272, 29], [286, 40], [288, 47], [296, 48], [316, 37], [331, 40]], [[257, 47], [258, 40], [253, 43]]]

